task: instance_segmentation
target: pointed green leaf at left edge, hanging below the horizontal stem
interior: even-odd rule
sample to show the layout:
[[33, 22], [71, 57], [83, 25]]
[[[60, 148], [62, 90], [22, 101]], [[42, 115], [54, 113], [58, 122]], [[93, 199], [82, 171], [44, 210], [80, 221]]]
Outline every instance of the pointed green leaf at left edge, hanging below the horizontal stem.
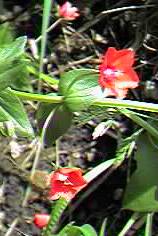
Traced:
[[20, 100], [9, 90], [0, 92], [0, 122], [13, 122], [17, 132], [33, 136], [33, 130]]

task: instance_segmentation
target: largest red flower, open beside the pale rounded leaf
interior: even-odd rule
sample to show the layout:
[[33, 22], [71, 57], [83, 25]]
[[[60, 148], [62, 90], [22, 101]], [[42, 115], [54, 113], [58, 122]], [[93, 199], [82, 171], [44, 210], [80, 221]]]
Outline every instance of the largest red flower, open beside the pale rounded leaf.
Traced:
[[128, 89], [138, 86], [139, 78], [132, 68], [134, 56], [132, 49], [108, 48], [99, 66], [99, 84], [105, 97], [124, 98]]

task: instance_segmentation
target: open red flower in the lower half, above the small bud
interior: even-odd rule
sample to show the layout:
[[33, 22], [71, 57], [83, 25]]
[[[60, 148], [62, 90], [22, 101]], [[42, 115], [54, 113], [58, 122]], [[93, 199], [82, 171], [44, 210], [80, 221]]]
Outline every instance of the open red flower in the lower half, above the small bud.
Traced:
[[60, 168], [50, 175], [49, 199], [63, 197], [69, 201], [86, 185], [81, 169]]

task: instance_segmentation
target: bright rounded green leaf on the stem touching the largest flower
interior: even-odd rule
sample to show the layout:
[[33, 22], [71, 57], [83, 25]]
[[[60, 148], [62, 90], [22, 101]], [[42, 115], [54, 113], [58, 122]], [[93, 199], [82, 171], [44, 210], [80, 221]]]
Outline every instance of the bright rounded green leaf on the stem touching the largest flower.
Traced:
[[92, 69], [75, 69], [61, 75], [59, 93], [71, 111], [80, 111], [91, 106], [102, 94], [98, 74]]

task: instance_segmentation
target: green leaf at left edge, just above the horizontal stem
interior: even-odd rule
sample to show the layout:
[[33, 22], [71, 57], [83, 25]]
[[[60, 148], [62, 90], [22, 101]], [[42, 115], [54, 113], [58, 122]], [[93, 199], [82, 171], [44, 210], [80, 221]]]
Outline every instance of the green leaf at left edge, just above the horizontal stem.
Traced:
[[[21, 89], [22, 84], [25, 91], [31, 91], [29, 80], [26, 82], [26, 60], [23, 58], [26, 37], [20, 37], [13, 43], [4, 45], [0, 48], [0, 90], [8, 86]], [[23, 89], [22, 89], [23, 90]]]

